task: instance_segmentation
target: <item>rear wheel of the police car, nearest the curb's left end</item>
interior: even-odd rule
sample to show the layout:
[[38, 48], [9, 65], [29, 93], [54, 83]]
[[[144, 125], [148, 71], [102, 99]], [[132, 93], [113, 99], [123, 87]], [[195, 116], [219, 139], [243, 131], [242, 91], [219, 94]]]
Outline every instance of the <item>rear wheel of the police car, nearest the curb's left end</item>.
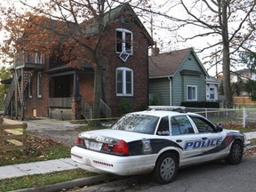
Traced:
[[153, 177], [159, 184], [172, 182], [178, 170], [178, 159], [172, 153], [159, 156], [153, 171]]

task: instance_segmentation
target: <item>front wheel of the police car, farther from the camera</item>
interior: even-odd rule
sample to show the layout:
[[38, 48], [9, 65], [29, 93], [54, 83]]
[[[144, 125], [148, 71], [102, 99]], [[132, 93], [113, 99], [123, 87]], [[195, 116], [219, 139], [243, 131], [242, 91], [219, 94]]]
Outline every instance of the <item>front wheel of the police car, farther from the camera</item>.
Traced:
[[230, 148], [226, 161], [228, 164], [240, 164], [243, 157], [243, 152], [243, 144], [239, 140], [235, 140]]

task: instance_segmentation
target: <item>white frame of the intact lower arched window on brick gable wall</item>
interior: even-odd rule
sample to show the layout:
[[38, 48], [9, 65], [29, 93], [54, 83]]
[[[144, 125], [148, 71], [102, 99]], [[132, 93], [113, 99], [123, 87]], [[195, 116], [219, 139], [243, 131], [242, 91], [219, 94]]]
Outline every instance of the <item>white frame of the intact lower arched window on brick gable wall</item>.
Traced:
[[[122, 93], [117, 92], [118, 91], [118, 79], [117, 79], [117, 72], [118, 71], [122, 71]], [[127, 93], [126, 92], [126, 85], [127, 85], [127, 81], [126, 81], [126, 72], [130, 71], [131, 72], [131, 93]], [[133, 70], [132, 68], [116, 68], [116, 96], [129, 96], [132, 97], [133, 96]]]

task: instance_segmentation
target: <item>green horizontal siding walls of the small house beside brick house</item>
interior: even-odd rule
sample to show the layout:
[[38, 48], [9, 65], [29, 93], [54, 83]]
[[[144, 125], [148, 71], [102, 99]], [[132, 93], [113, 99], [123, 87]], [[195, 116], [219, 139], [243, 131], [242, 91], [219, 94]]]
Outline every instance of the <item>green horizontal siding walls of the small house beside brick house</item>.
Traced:
[[[172, 65], [172, 63], [170, 63]], [[183, 69], [200, 72], [200, 76], [180, 75]], [[172, 77], [172, 106], [180, 106], [181, 101], [187, 101], [187, 86], [197, 87], [197, 100], [206, 100], [206, 74], [193, 54], [189, 54], [186, 60]], [[149, 79], [149, 96], [156, 95], [159, 105], [170, 105], [170, 80], [167, 77]]]

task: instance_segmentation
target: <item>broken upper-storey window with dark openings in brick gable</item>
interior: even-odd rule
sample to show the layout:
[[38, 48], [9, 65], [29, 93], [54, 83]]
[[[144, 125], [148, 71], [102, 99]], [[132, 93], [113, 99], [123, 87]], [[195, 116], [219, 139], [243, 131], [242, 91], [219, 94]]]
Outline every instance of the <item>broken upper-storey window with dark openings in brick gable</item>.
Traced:
[[124, 28], [116, 28], [116, 53], [132, 54], [132, 31]]

